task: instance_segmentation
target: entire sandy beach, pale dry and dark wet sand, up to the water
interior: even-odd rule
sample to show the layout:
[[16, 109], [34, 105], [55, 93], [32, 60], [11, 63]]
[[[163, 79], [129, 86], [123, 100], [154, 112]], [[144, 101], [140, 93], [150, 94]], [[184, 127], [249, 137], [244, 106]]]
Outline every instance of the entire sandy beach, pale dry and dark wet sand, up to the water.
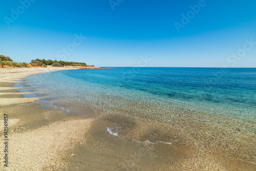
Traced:
[[[2, 118], [4, 114], [9, 117], [9, 170], [251, 170], [254, 167], [235, 163], [238, 160], [223, 160], [221, 155], [218, 158], [217, 152], [211, 155], [180, 144], [178, 130], [165, 128], [161, 123], [126, 116], [68, 116], [61, 109], [44, 109], [38, 98], [23, 98], [24, 93], [11, 88], [20, 78], [61, 69], [66, 68], [0, 69], [0, 113]], [[107, 128], [116, 126], [120, 119], [129, 123], [126, 125], [129, 132], [111, 135]], [[3, 127], [3, 119], [0, 126]], [[160, 134], [164, 131], [173, 137]], [[162, 142], [151, 142], [152, 135]], [[168, 144], [169, 138], [177, 143]], [[0, 147], [4, 149], [2, 143]], [[0, 169], [4, 169], [3, 164]]]

